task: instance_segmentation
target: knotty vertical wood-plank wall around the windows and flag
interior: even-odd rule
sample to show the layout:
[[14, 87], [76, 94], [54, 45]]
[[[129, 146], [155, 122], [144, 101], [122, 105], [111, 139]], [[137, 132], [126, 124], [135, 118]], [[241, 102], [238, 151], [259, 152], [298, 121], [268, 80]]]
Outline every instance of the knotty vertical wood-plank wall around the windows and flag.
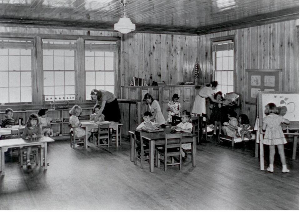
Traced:
[[[242, 93], [242, 113], [254, 123], [256, 106], [245, 104], [246, 69], [282, 69], [283, 91], [299, 90], [299, 21], [278, 22], [257, 27], [224, 31], [201, 36], [90, 31], [91, 36], [121, 37], [121, 85], [129, 85], [133, 76], [146, 83], [165, 81], [175, 85], [193, 81], [193, 67], [198, 56], [201, 78], [196, 84], [212, 80], [211, 38], [235, 35], [235, 90]], [[0, 27], [0, 34], [19, 36], [87, 36], [88, 30]], [[118, 87], [119, 88], [119, 87]], [[120, 94], [118, 94], [120, 97]]]

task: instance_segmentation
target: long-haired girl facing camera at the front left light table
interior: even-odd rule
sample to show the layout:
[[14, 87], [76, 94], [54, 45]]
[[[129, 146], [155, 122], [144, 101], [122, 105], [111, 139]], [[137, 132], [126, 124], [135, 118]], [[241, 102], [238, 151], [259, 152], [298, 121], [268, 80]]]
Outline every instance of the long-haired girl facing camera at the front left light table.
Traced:
[[[26, 126], [24, 128], [24, 132], [22, 134], [22, 138], [28, 140], [30, 139], [35, 139], [41, 137], [41, 128], [40, 124], [38, 123], [38, 117], [37, 114], [31, 114], [28, 118], [28, 121], [26, 123]], [[27, 147], [27, 152], [26, 152], [26, 166], [27, 169], [31, 168], [31, 163], [30, 163], [30, 153], [31, 153], [31, 147]]]

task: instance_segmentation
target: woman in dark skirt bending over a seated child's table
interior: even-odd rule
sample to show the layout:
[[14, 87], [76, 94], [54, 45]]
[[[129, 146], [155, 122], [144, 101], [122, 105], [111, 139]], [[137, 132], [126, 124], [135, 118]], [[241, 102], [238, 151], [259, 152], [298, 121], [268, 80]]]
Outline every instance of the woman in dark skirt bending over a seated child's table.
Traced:
[[113, 93], [106, 90], [92, 90], [91, 98], [96, 101], [96, 104], [102, 101], [98, 114], [103, 114], [105, 116], [104, 120], [114, 122], [121, 120], [118, 100]]

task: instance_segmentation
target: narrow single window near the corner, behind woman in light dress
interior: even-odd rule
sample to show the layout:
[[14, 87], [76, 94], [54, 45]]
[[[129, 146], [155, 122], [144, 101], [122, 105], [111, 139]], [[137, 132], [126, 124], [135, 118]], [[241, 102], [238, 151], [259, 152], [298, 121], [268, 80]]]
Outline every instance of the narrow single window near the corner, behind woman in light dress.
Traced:
[[223, 94], [233, 92], [233, 47], [232, 40], [213, 42], [214, 80], [218, 82], [217, 91]]

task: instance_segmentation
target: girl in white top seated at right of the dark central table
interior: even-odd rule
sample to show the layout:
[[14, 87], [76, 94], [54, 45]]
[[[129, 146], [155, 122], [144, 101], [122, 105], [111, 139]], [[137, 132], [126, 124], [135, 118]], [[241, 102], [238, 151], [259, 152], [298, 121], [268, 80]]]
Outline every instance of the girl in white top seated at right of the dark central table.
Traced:
[[[192, 120], [191, 120], [191, 114], [190, 112], [184, 110], [184, 114], [181, 115], [181, 123], [179, 123], [175, 127], [171, 127], [171, 130], [175, 130], [177, 132], [192, 132]], [[183, 143], [181, 145], [181, 156], [182, 156], [182, 162], [185, 162], [187, 159], [187, 154], [185, 152], [191, 151], [192, 146], [191, 143]]]

